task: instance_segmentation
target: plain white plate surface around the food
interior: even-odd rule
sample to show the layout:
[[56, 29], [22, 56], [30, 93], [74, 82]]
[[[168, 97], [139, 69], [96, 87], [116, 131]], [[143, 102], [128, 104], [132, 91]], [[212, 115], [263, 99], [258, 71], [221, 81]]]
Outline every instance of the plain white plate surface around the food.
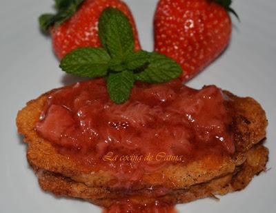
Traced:
[[[137, 21], [141, 43], [152, 50], [152, 17], [156, 0], [128, 0]], [[26, 145], [17, 134], [15, 117], [27, 101], [77, 79], [66, 77], [52, 54], [50, 39], [39, 32], [37, 17], [52, 10], [51, 0], [1, 0], [0, 8], [0, 212], [100, 212], [79, 200], [56, 198], [40, 190], [26, 161]], [[253, 179], [242, 192], [177, 205], [179, 212], [276, 212], [276, 1], [235, 1], [230, 47], [188, 85], [216, 84], [262, 103], [268, 120], [267, 173]]]

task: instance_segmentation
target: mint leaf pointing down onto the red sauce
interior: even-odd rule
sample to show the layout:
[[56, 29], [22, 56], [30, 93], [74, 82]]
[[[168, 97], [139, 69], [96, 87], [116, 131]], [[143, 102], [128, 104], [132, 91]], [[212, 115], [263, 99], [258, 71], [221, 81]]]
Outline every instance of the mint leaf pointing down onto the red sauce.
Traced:
[[110, 73], [107, 78], [110, 99], [117, 104], [124, 103], [130, 97], [134, 82], [134, 74], [131, 71]]

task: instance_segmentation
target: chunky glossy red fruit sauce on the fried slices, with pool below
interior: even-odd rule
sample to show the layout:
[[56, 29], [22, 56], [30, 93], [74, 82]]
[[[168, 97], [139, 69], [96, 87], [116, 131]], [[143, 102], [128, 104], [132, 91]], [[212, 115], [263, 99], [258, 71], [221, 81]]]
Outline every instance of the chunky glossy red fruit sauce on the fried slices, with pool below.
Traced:
[[[195, 161], [209, 152], [233, 154], [226, 98], [215, 85], [195, 90], [175, 80], [137, 83], [130, 99], [117, 105], [109, 99], [103, 79], [91, 80], [50, 94], [36, 130], [59, 153], [90, 170], [112, 172], [118, 183], [110, 187], [128, 189], [139, 185], [143, 174], [164, 165]], [[104, 161], [111, 152], [117, 159]], [[161, 152], [165, 156], [157, 159]], [[144, 161], [149, 154], [153, 158]], [[126, 205], [130, 206], [114, 205], [106, 212], [120, 212]], [[172, 212], [164, 205], [134, 209]]]

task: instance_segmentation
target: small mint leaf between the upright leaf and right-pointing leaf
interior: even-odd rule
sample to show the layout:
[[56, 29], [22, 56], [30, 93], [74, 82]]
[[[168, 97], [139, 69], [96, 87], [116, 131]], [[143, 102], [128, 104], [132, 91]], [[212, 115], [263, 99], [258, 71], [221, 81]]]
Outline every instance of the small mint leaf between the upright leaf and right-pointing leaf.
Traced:
[[143, 65], [148, 63], [149, 55], [150, 54], [144, 50], [129, 54], [124, 61], [126, 69], [136, 70], [138, 68], [141, 68]]

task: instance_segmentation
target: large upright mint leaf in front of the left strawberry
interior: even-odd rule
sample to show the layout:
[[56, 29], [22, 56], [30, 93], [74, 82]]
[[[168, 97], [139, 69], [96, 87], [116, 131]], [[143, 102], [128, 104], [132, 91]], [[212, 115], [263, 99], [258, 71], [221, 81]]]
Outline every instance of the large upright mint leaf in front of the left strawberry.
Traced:
[[110, 56], [124, 61], [133, 52], [134, 39], [128, 17], [115, 8], [106, 8], [99, 18], [99, 38]]

